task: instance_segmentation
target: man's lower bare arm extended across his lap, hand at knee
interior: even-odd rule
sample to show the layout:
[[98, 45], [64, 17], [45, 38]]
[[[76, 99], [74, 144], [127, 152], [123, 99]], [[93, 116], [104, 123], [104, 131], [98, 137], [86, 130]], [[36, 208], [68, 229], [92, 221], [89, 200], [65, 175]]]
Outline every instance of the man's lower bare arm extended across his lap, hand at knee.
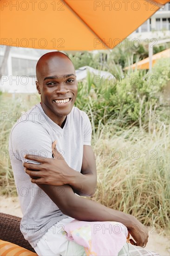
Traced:
[[63, 214], [80, 221], [116, 221], [123, 223], [135, 239], [136, 245], [144, 246], [148, 234], [144, 225], [134, 216], [107, 208], [106, 206], [74, 194], [69, 185], [52, 186], [39, 184]]

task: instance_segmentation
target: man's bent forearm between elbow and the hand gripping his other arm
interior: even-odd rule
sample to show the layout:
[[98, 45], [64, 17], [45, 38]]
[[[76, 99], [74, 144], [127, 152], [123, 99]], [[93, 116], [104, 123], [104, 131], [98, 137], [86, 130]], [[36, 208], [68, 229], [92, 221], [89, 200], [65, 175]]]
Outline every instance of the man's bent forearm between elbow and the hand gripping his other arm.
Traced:
[[92, 196], [97, 186], [97, 178], [92, 174], [82, 174], [71, 168], [72, 176], [69, 179], [69, 185], [73, 191], [82, 196]]

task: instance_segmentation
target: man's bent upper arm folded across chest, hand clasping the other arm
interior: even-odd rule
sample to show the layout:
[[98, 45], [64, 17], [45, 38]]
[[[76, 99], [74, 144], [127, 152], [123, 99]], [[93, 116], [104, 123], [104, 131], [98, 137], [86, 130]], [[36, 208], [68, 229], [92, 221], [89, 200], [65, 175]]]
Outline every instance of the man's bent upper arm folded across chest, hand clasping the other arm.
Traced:
[[81, 173], [79, 173], [67, 165], [54, 144], [52, 143], [52, 153], [55, 159], [46, 158], [42, 161], [36, 155], [26, 156], [29, 160], [42, 162], [40, 165], [24, 163], [26, 173], [32, 177], [32, 182], [53, 186], [69, 184], [78, 195], [93, 195], [97, 183], [97, 174], [92, 147], [84, 145], [82, 168]]

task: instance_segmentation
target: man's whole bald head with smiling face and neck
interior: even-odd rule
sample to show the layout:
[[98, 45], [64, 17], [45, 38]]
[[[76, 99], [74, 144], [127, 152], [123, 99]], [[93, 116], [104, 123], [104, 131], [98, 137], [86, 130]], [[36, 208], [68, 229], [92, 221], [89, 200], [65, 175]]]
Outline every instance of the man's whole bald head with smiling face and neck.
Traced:
[[78, 93], [72, 61], [60, 52], [48, 53], [39, 59], [36, 73], [41, 106], [46, 115], [61, 126], [71, 112]]

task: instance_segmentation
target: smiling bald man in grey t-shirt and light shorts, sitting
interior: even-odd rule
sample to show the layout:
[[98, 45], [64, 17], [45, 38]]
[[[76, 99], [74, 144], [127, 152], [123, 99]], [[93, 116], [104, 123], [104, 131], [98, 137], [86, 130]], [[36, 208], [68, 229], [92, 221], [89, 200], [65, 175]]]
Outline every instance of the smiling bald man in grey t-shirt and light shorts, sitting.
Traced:
[[73, 107], [78, 83], [72, 61], [60, 52], [47, 53], [39, 59], [36, 74], [41, 103], [25, 118], [21, 116], [9, 139], [25, 239], [38, 255], [85, 255], [81, 246], [53, 228], [72, 218], [116, 221], [123, 223], [136, 241], [131, 239], [133, 245], [126, 244], [119, 255], [157, 255], [142, 248], [148, 235], [134, 216], [78, 196], [93, 195], [97, 178], [90, 120]]

